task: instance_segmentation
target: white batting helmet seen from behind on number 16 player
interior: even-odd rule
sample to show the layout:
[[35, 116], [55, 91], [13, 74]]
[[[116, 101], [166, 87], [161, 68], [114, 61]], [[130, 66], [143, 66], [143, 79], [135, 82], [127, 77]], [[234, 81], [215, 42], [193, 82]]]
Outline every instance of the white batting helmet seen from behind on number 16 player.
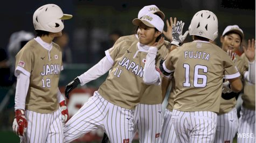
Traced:
[[214, 41], [218, 36], [218, 19], [207, 10], [198, 11], [189, 26], [189, 35], [197, 35]]

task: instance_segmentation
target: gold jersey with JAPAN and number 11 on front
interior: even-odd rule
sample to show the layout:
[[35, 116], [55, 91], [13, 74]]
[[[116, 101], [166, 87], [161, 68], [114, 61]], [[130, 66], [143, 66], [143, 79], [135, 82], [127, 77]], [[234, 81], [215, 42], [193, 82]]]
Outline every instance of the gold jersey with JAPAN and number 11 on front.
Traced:
[[100, 95], [117, 106], [135, 109], [149, 85], [143, 82], [148, 48], [137, 41], [123, 41], [105, 51], [113, 64], [107, 79], [99, 87]]

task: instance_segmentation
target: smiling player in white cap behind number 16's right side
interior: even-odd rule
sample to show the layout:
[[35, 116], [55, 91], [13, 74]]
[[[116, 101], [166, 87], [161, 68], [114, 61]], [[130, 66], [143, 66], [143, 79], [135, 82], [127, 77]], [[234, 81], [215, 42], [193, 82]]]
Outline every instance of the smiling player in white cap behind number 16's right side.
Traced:
[[[232, 55], [240, 45], [244, 38], [244, 33], [237, 25], [227, 26], [224, 29], [222, 36], [220, 37], [220, 42], [222, 43], [222, 49], [234, 59], [234, 64], [236, 65], [240, 74], [245, 71], [243, 62], [238, 55]], [[243, 74], [242, 74], [243, 75]], [[228, 82], [227, 82], [228, 83]], [[217, 129], [214, 142], [233, 142], [234, 136], [236, 136], [238, 129], [238, 117], [236, 104], [240, 93], [234, 93], [231, 90], [226, 91], [226, 83], [224, 82], [222, 98], [220, 100], [220, 108], [218, 113]]]

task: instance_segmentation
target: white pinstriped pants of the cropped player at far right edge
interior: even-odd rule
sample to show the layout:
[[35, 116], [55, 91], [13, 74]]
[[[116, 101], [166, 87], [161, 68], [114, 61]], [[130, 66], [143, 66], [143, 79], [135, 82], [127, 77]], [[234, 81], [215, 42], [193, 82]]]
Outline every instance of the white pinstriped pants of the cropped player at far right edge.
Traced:
[[246, 137], [238, 137], [238, 143], [255, 142], [255, 110], [241, 107], [238, 134], [246, 133]]

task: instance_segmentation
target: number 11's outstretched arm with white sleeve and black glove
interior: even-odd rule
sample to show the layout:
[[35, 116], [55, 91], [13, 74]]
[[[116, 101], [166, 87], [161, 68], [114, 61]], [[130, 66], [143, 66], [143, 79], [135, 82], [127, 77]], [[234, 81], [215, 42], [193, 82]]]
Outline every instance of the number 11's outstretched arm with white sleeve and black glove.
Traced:
[[81, 76], [75, 78], [68, 85], [66, 85], [65, 96], [69, 99], [70, 92], [76, 88], [79, 84], [84, 85], [89, 81], [92, 81], [106, 72], [108, 72], [112, 68], [112, 63], [110, 63], [107, 57], [101, 59], [99, 63], [94, 65], [91, 69], [81, 74]]

